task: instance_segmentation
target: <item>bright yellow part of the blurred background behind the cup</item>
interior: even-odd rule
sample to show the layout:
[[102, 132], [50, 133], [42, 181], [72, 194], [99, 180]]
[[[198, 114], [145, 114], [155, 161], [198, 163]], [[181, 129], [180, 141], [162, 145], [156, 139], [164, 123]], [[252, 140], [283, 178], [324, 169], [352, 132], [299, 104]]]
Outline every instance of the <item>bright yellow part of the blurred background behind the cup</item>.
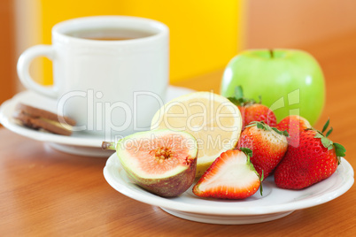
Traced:
[[[50, 44], [50, 29], [66, 19], [93, 15], [129, 15], [156, 19], [170, 29], [170, 81], [210, 73], [228, 64], [242, 48], [243, 1], [240, 0], [33, 0], [40, 43]], [[43, 73], [35, 79], [51, 84], [51, 63], [37, 60]], [[42, 70], [40, 70], [41, 72]]]

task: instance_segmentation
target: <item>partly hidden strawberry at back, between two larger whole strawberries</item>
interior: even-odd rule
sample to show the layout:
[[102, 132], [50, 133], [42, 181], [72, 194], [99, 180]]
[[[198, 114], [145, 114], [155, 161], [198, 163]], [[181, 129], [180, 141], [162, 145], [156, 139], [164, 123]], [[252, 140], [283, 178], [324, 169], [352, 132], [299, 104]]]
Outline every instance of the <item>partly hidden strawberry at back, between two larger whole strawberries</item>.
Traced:
[[300, 132], [312, 126], [305, 118], [298, 115], [290, 115], [282, 119], [275, 127], [280, 131], [287, 131], [287, 133], [290, 134], [290, 136], [287, 137], [288, 144], [293, 147], [298, 147]]

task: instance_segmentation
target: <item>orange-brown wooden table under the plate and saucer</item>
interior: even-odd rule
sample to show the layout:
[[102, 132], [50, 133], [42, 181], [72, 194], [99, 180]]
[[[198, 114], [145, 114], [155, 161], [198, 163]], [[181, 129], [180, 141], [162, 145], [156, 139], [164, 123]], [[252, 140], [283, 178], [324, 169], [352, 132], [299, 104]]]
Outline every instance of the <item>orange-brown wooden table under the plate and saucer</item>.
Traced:
[[[331, 119], [333, 141], [347, 149], [356, 167], [356, 32], [300, 48], [318, 59], [327, 83], [327, 103], [316, 126]], [[178, 86], [219, 91], [222, 71]], [[136, 202], [110, 187], [106, 159], [79, 157], [43, 142], [0, 130], [1, 236], [355, 236], [356, 187], [329, 203], [272, 222], [209, 225], [176, 218]]]

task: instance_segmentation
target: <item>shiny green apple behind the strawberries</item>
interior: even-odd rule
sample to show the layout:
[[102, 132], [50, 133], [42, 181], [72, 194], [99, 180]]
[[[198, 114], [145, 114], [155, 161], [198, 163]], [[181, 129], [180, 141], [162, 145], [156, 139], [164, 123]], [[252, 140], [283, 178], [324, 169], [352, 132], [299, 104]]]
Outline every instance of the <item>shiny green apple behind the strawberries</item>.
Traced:
[[242, 86], [244, 97], [275, 111], [277, 120], [290, 114], [306, 118], [313, 126], [325, 102], [321, 67], [303, 50], [245, 50], [228, 63], [221, 80], [221, 95], [234, 96]]

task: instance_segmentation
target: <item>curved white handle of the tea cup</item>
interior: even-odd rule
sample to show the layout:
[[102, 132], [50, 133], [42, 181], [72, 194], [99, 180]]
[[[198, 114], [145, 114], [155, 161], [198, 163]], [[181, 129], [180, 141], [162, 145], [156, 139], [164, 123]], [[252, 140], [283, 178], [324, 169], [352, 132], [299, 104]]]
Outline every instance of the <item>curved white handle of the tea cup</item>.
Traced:
[[19, 57], [17, 71], [19, 75], [19, 80], [21, 83], [28, 89], [37, 92], [43, 96], [49, 96], [51, 98], [57, 98], [58, 93], [54, 86], [42, 86], [35, 82], [29, 74], [29, 66], [31, 61], [35, 57], [48, 57], [50, 60], [53, 60], [54, 50], [51, 45], [35, 45], [31, 48], [25, 50]]

